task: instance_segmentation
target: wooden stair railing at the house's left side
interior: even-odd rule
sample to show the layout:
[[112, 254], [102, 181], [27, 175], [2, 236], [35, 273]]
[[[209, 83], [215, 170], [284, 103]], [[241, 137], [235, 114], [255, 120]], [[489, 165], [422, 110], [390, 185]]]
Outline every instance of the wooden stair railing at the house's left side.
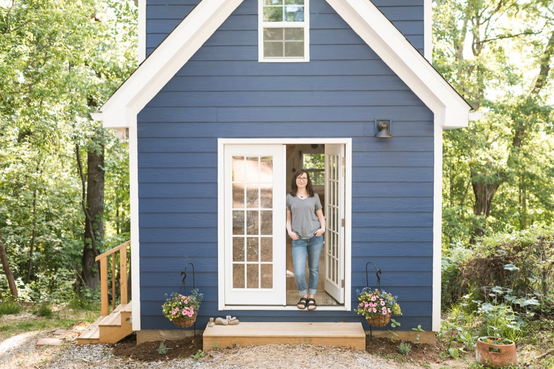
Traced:
[[96, 262], [100, 260], [100, 308], [101, 315], [108, 315], [108, 288], [107, 288], [107, 258], [111, 255], [111, 301], [112, 310], [115, 310], [115, 281], [116, 281], [116, 265], [115, 254], [119, 252], [119, 276], [120, 276], [120, 296], [121, 304], [129, 303], [127, 299], [127, 247], [131, 241], [122, 243], [111, 250], [106, 251], [96, 257]]

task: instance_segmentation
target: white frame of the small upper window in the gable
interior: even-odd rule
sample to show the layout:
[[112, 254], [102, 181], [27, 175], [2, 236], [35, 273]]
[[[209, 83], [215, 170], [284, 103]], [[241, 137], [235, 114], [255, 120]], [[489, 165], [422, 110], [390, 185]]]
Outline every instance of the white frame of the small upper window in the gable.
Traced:
[[[264, 0], [258, 0], [258, 61], [260, 63], [305, 63], [310, 61], [310, 4], [304, 0], [304, 22], [264, 22]], [[303, 28], [304, 58], [264, 58], [264, 28]]]

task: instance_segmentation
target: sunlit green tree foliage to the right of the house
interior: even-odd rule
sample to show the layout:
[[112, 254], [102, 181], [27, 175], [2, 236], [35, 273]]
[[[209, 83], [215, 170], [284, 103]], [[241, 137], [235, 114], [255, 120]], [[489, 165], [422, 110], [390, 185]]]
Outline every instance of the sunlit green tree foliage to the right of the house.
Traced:
[[553, 12], [545, 0], [434, 3], [434, 65], [482, 113], [444, 134], [446, 244], [552, 221]]

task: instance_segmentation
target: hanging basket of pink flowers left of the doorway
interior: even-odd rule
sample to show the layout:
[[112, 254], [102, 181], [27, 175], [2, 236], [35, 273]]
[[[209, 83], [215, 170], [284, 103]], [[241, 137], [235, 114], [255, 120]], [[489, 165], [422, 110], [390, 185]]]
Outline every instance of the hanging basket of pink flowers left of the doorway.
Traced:
[[188, 296], [178, 292], [174, 292], [171, 296], [166, 294], [166, 302], [162, 305], [163, 315], [176, 326], [187, 328], [196, 321], [203, 296], [198, 289], [193, 289]]

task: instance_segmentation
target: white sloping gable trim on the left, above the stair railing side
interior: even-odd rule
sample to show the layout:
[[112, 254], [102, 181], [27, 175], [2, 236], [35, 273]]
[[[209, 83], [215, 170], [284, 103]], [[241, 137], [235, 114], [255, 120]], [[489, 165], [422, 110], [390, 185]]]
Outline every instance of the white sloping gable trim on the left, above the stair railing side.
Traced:
[[[104, 127], [129, 126], [243, 0], [202, 0], [101, 107]], [[135, 119], [136, 121], [136, 119]]]

